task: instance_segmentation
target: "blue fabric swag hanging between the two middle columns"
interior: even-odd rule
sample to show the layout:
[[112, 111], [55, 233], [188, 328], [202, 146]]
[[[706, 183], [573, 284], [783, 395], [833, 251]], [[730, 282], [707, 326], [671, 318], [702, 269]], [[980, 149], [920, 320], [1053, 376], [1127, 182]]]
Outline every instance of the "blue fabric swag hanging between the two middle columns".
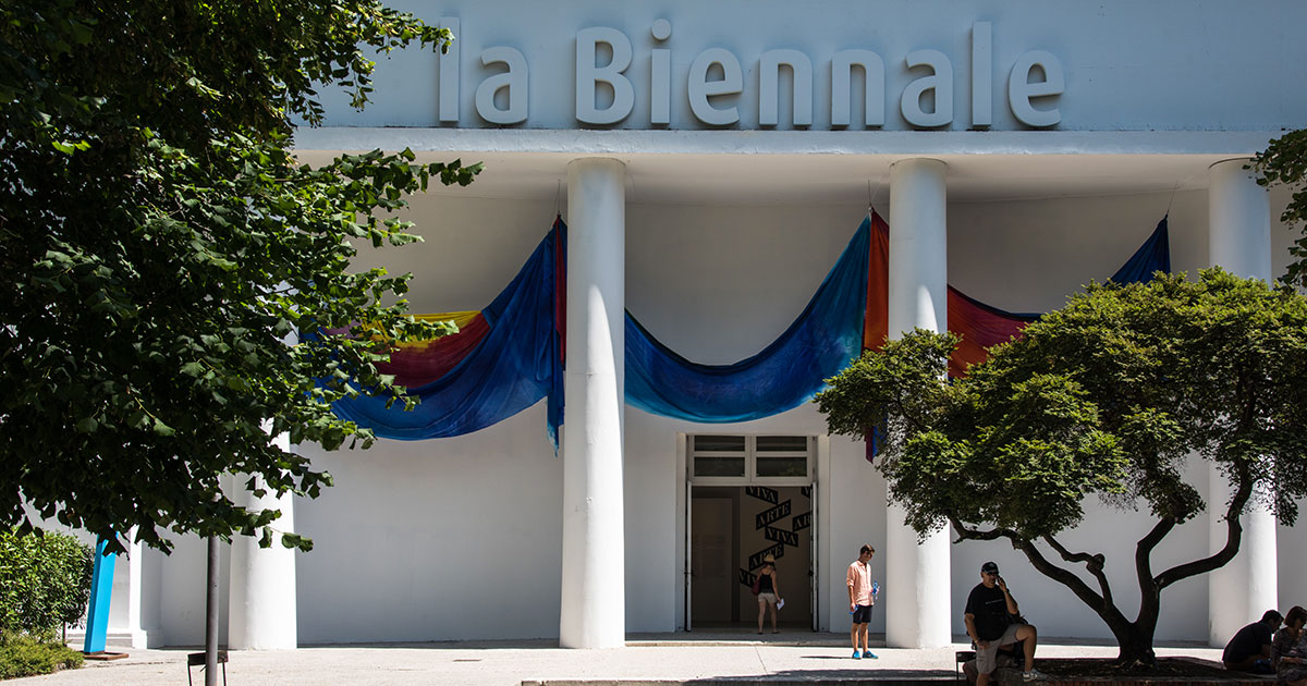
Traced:
[[761, 353], [698, 365], [626, 312], [626, 402], [693, 422], [744, 422], [796, 408], [863, 350], [870, 222], [863, 221], [802, 314]]

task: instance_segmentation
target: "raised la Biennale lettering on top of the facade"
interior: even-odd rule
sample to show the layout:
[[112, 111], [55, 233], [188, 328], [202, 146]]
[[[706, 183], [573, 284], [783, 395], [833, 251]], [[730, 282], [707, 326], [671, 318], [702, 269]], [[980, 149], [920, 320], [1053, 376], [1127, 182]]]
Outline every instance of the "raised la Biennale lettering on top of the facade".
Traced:
[[[455, 35], [463, 35], [464, 27], [457, 17], [442, 17], [439, 24]], [[996, 65], [991, 22], [976, 21], [971, 25], [971, 50], [968, 59], [962, 60], [961, 73], [954, 60], [940, 50], [912, 50], [887, 59], [859, 47], [816, 59], [793, 48], [737, 55], [721, 47], [703, 47], [687, 69], [673, 73], [672, 48], [657, 47], [672, 37], [672, 24], [660, 18], [648, 30], [655, 47], [650, 48], [648, 72], [638, 78], [631, 68], [637, 55], [631, 38], [610, 26], [578, 30], [572, 55], [569, 55], [567, 43], [559, 42], [558, 54], [531, 57], [575, 59], [572, 116], [580, 125], [621, 124], [640, 102], [642, 107], [648, 107], [644, 114], [654, 128], [672, 123], [673, 106], [689, 107], [691, 127], [732, 127], [741, 123], [740, 103], [753, 101], [757, 103], [757, 124], [762, 128], [783, 124], [812, 127], [814, 107], [829, 107], [830, 118], [823, 122], [829, 122], [831, 128], [880, 128], [886, 123], [887, 108], [895, 105], [912, 128], [948, 127], [959, 118], [959, 110], [968, 127], [987, 128], [993, 123], [995, 78], [1005, 80], [1002, 90], [1008, 97], [1002, 105], [1021, 124], [1047, 128], [1061, 122], [1057, 107], [1059, 97], [1065, 91], [1061, 61], [1048, 51], [1027, 50], [1012, 64]], [[491, 72], [481, 76], [476, 86], [478, 124], [529, 125], [532, 81], [528, 56], [512, 46], [491, 46], [468, 57], [480, 63], [482, 74]], [[439, 57], [438, 110], [444, 124], [461, 124], [461, 82], [472, 77], [464, 73], [463, 59], [459, 41]], [[757, 80], [746, 82], [746, 67], [757, 68]], [[901, 93], [887, 93], [887, 69], [907, 69], [914, 78]], [[816, 78], [830, 80], [827, 102], [816, 102]], [[954, 103], [958, 78], [970, 80], [971, 97], [963, 107]], [[788, 93], [784, 93], [787, 81]], [[673, 88], [673, 82], [684, 82], [685, 86]], [[638, 94], [638, 89], [646, 91]], [[856, 90], [864, 94], [859, 107], [852, 98]], [[782, 98], [788, 98], [789, 122], [782, 122]], [[857, 116], [859, 112], [861, 116]]]

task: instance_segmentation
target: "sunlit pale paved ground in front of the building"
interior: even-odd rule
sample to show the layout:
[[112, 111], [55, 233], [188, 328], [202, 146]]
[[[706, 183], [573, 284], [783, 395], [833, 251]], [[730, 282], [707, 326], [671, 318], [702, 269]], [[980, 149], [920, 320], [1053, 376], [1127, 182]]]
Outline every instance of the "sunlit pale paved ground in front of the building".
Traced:
[[[693, 639], [693, 640], [691, 640]], [[754, 640], [763, 639], [763, 640]], [[610, 651], [567, 651], [555, 642], [452, 642], [384, 645], [331, 645], [298, 651], [238, 651], [227, 664], [231, 685], [467, 685], [519, 686], [523, 682], [689, 682], [744, 678], [765, 682], [814, 682], [863, 678], [893, 681], [904, 677], [954, 674], [954, 651], [873, 648], [878, 660], [855, 661], [835, 634], [657, 634], [630, 636], [627, 647]], [[125, 649], [112, 648], [111, 649]], [[193, 649], [193, 648], [192, 648]], [[186, 683], [186, 655], [192, 649], [127, 649], [131, 656], [112, 662], [86, 662], [77, 670], [9, 683], [60, 686], [154, 686]], [[1116, 649], [1048, 639], [1044, 657], [1112, 657]], [[1219, 660], [1221, 651], [1200, 645], [1159, 647], [1158, 655], [1188, 655]], [[193, 670], [196, 683], [203, 673]], [[218, 679], [221, 683], [221, 678]]]

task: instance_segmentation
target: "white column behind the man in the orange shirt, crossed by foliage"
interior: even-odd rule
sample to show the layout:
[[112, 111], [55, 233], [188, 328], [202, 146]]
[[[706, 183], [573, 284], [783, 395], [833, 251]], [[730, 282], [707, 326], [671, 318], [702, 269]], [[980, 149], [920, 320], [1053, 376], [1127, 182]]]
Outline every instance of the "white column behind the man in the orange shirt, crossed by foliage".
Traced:
[[[890, 167], [889, 332], [948, 331], [946, 166], [903, 159]], [[918, 544], [890, 506], [885, 532], [885, 642], [893, 648], [951, 643], [949, 533]]]

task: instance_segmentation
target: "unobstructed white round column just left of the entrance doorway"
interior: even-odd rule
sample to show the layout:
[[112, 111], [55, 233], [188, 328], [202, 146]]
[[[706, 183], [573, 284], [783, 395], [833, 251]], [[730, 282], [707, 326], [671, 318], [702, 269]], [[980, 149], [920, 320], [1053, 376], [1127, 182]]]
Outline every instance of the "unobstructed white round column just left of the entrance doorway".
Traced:
[[567, 414], [558, 643], [626, 644], [622, 504], [626, 166], [567, 165]]

